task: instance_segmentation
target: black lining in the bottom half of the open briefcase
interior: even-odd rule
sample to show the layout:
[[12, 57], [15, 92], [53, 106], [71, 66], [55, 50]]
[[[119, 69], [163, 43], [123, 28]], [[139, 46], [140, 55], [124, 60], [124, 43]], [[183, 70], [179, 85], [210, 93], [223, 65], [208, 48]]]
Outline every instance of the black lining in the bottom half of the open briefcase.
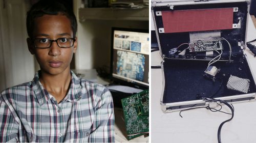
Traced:
[[198, 97], [210, 97], [218, 90], [218, 93], [213, 98], [244, 94], [227, 89], [226, 84], [230, 74], [249, 79], [250, 87], [248, 93], [256, 91], [253, 77], [244, 56], [237, 58], [235, 62], [219, 61], [212, 64], [221, 69], [216, 75], [223, 82], [220, 89], [220, 79], [212, 81], [203, 76], [208, 63], [209, 61], [165, 59], [163, 63], [165, 78], [163, 103], [191, 101], [197, 100]]

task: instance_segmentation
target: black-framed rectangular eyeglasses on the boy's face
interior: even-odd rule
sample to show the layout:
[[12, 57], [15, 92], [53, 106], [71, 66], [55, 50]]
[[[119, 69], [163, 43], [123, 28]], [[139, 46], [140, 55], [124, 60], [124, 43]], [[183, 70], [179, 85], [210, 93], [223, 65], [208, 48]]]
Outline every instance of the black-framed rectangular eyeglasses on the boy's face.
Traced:
[[75, 38], [58, 38], [56, 40], [48, 39], [48, 38], [35, 38], [34, 39], [34, 47], [46, 49], [52, 46], [52, 42], [57, 42], [57, 45], [60, 48], [71, 48], [74, 46]]

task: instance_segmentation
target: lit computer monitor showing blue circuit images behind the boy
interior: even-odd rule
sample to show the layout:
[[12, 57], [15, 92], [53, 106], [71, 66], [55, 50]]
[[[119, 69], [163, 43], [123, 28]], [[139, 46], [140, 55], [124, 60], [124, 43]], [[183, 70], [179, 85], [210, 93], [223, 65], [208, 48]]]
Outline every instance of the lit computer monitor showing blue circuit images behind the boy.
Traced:
[[148, 30], [112, 28], [111, 74], [120, 84], [147, 89], [149, 71]]

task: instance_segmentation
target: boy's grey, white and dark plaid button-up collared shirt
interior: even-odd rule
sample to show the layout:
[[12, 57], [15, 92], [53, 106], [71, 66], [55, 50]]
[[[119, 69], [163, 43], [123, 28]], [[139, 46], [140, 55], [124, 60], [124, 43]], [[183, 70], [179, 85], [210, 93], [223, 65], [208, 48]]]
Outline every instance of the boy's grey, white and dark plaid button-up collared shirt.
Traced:
[[58, 104], [39, 82], [0, 95], [0, 142], [114, 142], [114, 108], [104, 86], [77, 78]]

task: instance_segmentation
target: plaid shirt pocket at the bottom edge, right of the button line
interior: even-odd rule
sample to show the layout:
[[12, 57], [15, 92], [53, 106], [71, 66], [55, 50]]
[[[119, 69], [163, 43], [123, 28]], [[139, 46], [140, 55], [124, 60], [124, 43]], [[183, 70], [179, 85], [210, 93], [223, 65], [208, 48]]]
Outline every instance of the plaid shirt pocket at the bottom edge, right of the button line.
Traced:
[[65, 142], [88, 142], [91, 130], [74, 131], [67, 134]]

